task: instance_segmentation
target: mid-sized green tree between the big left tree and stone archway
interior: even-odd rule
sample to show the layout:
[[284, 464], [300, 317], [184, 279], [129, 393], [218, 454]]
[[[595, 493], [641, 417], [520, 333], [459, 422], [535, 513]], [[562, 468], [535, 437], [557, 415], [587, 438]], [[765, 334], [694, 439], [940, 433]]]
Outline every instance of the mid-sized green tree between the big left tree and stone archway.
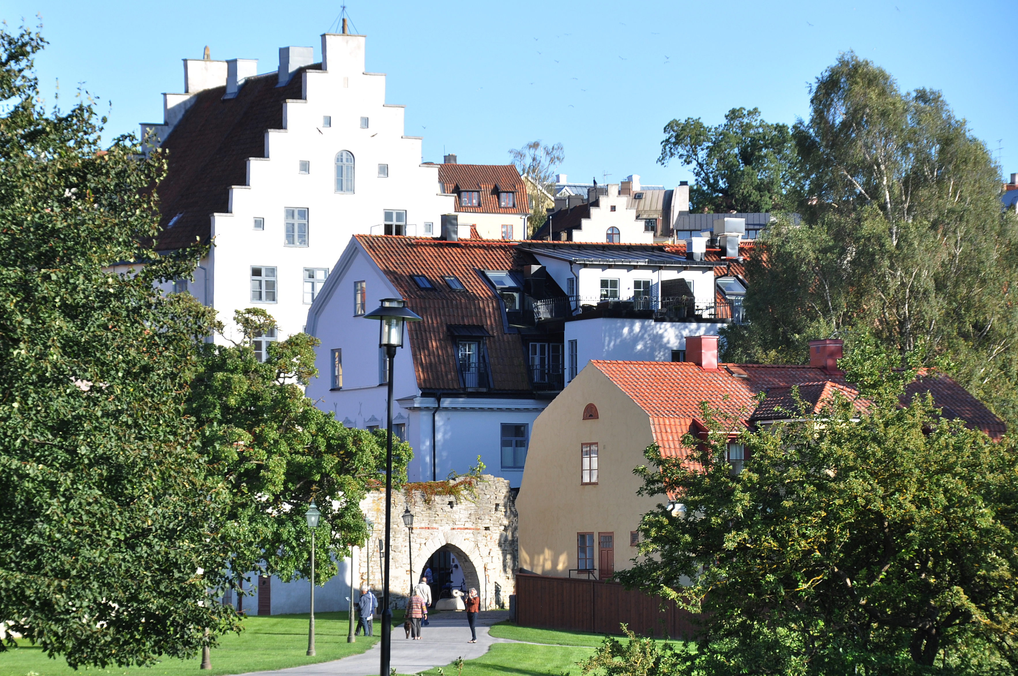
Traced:
[[[275, 321], [248, 308], [234, 322], [242, 340], [202, 347], [187, 405], [210, 473], [229, 488], [231, 502], [220, 520], [235, 543], [230, 584], [236, 587], [248, 571], [309, 577], [304, 513], [312, 500], [322, 511], [315, 564], [322, 584], [337, 573], [336, 561], [349, 556], [348, 548], [367, 537], [359, 505], [385, 469], [386, 433], [348, 430], [304, 396], [303, 386], [318, 375], [318, 339], [299, 333], [269, 342], [259, 361], [251, 339], [268, 334]], [[406, 481], [410, 457], [408, 444], [393, 445], [396, 486]]]

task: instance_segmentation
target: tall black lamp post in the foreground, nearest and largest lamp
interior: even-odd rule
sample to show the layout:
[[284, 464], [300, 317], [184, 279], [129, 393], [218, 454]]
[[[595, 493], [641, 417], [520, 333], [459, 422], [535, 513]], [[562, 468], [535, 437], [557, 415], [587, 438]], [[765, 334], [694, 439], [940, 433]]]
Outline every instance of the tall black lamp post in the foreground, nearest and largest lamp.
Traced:
[[389, 551], [392, 536], [392, 381], [393, 359], [396, 348], [403, 346], [403, 325], [419, 322], [420, 318], [406, 308], [402, 298], [383, 298], [382, 306], [364, 315], [367, 320], [380, 320], [379, 347], [384, 347], [388, 358], [389, 388], [386, 397], [386, 456], [385, 456], [385, 565], [382, 568], [382, 664], [380, 676], [389, 676], [392, 657], [392, 609], [389, 607]]

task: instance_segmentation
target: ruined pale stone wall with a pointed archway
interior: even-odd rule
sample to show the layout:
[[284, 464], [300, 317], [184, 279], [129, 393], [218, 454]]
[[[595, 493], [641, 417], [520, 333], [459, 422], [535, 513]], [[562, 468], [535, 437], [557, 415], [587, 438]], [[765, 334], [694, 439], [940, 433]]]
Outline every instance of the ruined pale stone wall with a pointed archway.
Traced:
[[[449, 545], [463, 569], [467, 587], [476, 587], [482, 609], [508, 608], [514, 594], [518, 567], [518, 518], [513, 493], [505, 478], [484, 474], [476, 496], [464, 490], [462, 496], [427, 496], [415, 491], [393, 491], [390, 594], [393, 608], [406, 605], [410, 580], [420, 579], [423, 564], [440, 548]], [[462, 481], [462, 480], [458, 480]], [[403, 511], [413, 514], [412, 546], [408, 544]], [[381, 603], [382, 567], [378, 541], [385, 538], [385, 491], [369, 494], [361, 503], [364, 515], [375, 523], [370, 548], [357, 548], [357, 570], [361, 585], [367, 583], [365, 564], [371, 566], [371, 586]], [[369, 552], [371, 554], [369, 560]], [[413, 571], [410, 574], [409, 554]]]

